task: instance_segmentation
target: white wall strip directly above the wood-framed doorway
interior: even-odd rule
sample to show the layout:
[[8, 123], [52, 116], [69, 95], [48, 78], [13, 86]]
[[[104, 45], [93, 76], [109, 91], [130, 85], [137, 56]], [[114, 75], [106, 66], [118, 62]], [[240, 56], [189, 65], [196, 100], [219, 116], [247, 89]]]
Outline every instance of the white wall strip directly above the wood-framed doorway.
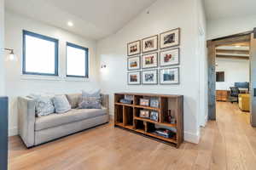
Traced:
[[225, 37], [256, 27], [256, 15], [207, 20], [207, 39]]

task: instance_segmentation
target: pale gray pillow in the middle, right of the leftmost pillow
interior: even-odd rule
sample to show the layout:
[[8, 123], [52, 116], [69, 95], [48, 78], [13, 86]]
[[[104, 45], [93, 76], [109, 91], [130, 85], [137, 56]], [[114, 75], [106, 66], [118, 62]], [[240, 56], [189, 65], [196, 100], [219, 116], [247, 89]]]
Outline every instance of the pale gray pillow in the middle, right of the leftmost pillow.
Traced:
[[56, 95], [53, 98], [53, 103], [55, 105], [56, 113], [65, 113], [71, 110], [71, 105], [69, 104], [66, 95]]

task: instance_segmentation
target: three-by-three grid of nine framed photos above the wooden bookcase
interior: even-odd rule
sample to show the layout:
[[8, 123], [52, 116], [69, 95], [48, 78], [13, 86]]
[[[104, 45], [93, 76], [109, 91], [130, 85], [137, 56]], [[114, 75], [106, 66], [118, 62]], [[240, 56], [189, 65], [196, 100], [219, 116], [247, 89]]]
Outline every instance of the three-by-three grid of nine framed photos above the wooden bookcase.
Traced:
[[127, 43], [128, 85], [180, 83], [180, 28]]

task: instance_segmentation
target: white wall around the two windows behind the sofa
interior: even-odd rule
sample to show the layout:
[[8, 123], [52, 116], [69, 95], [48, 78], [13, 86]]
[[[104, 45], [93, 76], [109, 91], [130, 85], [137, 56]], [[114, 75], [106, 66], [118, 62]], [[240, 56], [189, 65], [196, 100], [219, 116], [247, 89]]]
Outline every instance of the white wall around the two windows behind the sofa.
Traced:
[[[22, 60], [22, 30], [34, 31], [49, 37], [59, 39], [59, 72], [60, 77], [49, 77], [48, 80], [30, 79], [20, 76]], [[81, 89], [98, 88], [98, 65], [96, 63], [96, 42], [76, 36], [59, 28], [45, 25], [42, 22], [21, 17], [17, 14], [6, 13], [5, 15], [5, 47], [14, 48], [18, 56], [18, 62], [5, 62], [6, 69], [6, 93], [9, 95], [9, 134], [17, 133], [17, 96], [31, 93], [64, 94], [80, 92]], [[90, 79], [67, 79], [66, 71], [66, 42], [89, 48], [90, 53]], [[43, 76], [44, 77], [44, 76]], [[82, 81], [84, 80], [84, 81]]]

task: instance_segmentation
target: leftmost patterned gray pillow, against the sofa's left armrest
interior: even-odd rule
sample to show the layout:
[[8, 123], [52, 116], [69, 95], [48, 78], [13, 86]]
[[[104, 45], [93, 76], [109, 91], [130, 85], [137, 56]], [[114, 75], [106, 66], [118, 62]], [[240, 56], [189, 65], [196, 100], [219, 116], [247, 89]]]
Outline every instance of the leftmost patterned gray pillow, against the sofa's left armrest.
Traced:
[[55, 112], [55, 107], [50, 97], [38, 96], [35, 101], [37, 116], [48, 116]]

